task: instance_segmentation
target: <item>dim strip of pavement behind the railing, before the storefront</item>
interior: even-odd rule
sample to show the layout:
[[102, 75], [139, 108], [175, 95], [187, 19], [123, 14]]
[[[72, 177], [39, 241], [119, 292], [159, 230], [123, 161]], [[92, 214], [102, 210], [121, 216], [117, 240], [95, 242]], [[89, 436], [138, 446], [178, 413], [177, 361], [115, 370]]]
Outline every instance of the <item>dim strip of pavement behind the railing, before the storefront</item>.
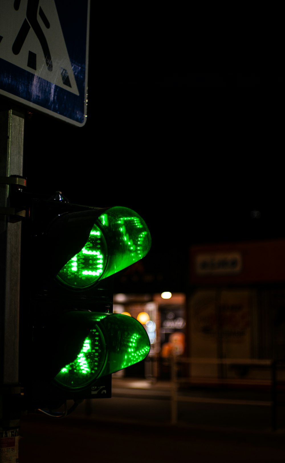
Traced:
[[148, 423], [209, 431], [261, 432], [285, 437], [285, 400], [272, 391], [244, 388], [179, 388], [170, 381], [112, 379], [112, 399], [89, 400], [79, 407], [95, 419]]

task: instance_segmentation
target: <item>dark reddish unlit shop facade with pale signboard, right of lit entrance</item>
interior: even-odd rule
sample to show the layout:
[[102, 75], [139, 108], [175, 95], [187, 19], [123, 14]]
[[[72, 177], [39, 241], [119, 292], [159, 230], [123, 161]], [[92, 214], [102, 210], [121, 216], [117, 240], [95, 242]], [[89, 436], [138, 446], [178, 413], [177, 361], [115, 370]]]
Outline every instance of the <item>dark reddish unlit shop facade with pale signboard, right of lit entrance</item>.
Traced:
[[210, 360], [285, 361], [285, 241], [193, 246], [188, 312], [192, 377], [270, 378]]

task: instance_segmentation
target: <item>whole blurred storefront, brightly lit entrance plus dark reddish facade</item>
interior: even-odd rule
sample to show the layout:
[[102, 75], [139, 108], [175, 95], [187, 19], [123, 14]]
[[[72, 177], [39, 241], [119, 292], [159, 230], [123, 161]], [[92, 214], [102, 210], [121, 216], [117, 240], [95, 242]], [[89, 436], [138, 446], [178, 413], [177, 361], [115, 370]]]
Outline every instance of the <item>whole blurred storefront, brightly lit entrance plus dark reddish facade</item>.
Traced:
[[251, 359], [285, 365], [285, 240], [192, 246], [185, 273], [185, 291], [168, 299], [155, 292], [114, 294], [115, 313], [147, 314], [142, 323], [151, 342], [145, 361], [117, 375], [170, 379], [173, 356], [196, 359], [187, 375], [197, 382], [269, 379], [270, 369], [252, 368]]

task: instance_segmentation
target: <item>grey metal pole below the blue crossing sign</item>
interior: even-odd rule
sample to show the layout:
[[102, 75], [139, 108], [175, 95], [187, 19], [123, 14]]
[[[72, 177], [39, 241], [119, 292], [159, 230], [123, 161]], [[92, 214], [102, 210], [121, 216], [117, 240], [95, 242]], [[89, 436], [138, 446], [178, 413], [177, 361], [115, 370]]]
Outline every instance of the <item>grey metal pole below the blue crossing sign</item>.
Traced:
[[5, 178], [23, 175], [23, 145], [23, 111], [0, 106], [0, 462], [19, 458], [21, 221], [10, 215]]

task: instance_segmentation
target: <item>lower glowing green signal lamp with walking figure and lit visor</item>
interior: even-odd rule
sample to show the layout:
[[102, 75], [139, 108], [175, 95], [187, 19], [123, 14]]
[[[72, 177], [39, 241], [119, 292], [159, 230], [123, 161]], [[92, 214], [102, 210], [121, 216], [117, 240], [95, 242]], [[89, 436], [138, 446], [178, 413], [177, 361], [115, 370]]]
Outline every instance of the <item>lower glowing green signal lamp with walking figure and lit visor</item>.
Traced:
[[132, 317], [91, 312], [68, 315], [74, 323], [82, 322], [84, 317], [89, 333], [74, 361], [64, 365], [55, 377], [64, 388], [87, 387], [100, 376], [140, 362], [149, 353], [147, 332]]

